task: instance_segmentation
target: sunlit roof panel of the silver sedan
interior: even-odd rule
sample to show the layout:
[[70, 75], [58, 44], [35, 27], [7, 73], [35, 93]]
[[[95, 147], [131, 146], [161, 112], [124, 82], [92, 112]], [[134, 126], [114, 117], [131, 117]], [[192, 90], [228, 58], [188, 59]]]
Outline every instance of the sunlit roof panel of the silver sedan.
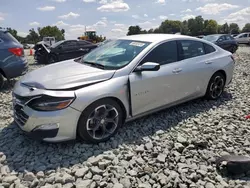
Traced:
[[175, 34], [138, 34], [138, 35], [129, 35], [121, 37], [122, 40], [137, 40], [144, 42], [159, 42], [169, 39], [192, 39], [197, 40], [195, 37], [190, 37], [186, 35], [175, 35]]

